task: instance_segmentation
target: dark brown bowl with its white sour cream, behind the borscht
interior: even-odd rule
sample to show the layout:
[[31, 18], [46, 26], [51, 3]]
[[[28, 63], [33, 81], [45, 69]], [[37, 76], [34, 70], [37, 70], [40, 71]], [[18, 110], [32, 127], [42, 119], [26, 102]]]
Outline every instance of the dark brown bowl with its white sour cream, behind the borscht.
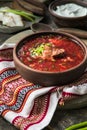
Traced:
[[53, 1], [49, 13], [58, 27], [87, 29], [87, 3], [82, 0]]

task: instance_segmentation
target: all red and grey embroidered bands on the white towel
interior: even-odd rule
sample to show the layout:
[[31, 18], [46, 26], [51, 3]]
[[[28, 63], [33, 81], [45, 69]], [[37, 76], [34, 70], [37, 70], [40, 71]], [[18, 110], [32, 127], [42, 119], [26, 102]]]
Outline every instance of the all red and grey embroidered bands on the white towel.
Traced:
[[[0, 61], [8, 60], [12, 60], [12, 49], [10, 48], [0, 51]], [[3, 69], [0, 73], [0, 113], [5, 116], [10, 110], [21, 112], [28, 96], [37, 89], [40, 89], [40, 86], [24, 80], [15, 68]], [[39, 123], [46, 115], [49, 98], [50, 94], [36, 98], [27, 118], [17, 116], [12, 123], [22, 130]]]

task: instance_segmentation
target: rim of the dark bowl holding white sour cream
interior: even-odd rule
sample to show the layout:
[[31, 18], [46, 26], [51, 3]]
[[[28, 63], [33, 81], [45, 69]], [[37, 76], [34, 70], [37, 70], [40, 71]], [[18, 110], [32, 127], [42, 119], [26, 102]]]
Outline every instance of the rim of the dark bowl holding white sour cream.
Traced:
[[[61, 2], [61, 0], [60, 0], [60, 2]], [[85, 7], [85, 4], [81, 1], [81, 0], [67, 0], [67, 1], [62, 1], [62, 2], [64, 2], [64, 4], [67, 4], [68, 2], [69, 3], [74, 3], [74, 4], [77, 4], [77, 5], [80, 5], [80, 6], [83, 6], [83, 7]], [[65, 16], [62, 16], [62, 15], [58, 15], [58, 14], [56, 14], [55, 12], [54, 12], [54, 7], [56, 7], [56, 6], [59, 6], [59, 1], [52, 1], [50, 4], [49, 4], [49, 7], [48, 7], [48, 10], [49, 10], [49, 12], [50, 12], [50, 14], [52, 14], [53, 16], [55, 16], [55, 17], [59, 17], [59, 18], [61, 18], [61, 19], [65, 19], [65, 20], [77, 20], [77, 19], [83, 19], [83, 18], [85, 18], [85, 17], [87, 17], [87, 15], [83, 15], [83, 16], [77, 16], [77, 17], [65, 17]], [[60, 5], [63, 5], [62, 3], [60, 4]]]

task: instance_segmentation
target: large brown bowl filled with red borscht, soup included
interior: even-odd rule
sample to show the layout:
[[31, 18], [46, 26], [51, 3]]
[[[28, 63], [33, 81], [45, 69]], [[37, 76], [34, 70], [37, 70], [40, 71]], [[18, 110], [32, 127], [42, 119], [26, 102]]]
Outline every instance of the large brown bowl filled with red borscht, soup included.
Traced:
[[13, 59], [19, 74], [29, 82], [61, 86], [82, 76], [87, 66], [87, 47], [65, 32], [38, 32], [15, 45]]

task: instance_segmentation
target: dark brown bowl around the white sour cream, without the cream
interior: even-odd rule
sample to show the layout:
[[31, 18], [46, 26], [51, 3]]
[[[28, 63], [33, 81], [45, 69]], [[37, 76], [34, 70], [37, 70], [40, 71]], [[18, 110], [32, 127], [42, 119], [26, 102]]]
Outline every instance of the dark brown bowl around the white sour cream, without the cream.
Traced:
[[65, 4], [70, 4], [70, 3], [87, 8], [87, 2], [82, 0], [53, 1], [49, 5], [49, 13], [53, 21], [58, 27], [71, 27], [71, 28], [74, 27], [74, 28], [87, 29], [87, 15], [67, 17], [66, 15], [64, 16], [60, 15], [59, 12], [57, 14], [54, 12], [56, 11], [57, 7], [60, 7], [61, 5], [65, 5]]

